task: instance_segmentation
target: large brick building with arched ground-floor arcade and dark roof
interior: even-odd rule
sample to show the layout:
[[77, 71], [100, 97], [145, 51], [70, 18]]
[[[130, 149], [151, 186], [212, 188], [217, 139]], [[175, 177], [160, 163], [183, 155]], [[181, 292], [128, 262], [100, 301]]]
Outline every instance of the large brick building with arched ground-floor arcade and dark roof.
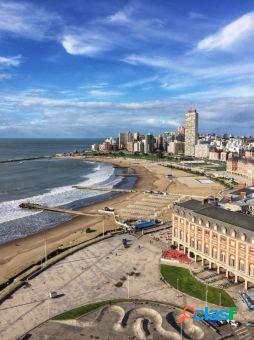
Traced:
[[203, 266], [254, 284], [254, 217], [194, 199], [175, 203], [172, 241]]

